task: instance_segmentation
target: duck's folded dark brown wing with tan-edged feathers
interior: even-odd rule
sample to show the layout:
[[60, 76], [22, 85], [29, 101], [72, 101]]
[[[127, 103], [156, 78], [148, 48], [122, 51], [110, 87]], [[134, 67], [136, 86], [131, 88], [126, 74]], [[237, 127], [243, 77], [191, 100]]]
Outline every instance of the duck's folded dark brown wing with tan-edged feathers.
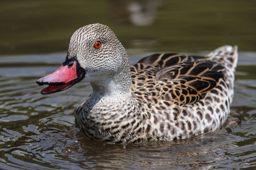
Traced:
[[224, 76], [225, 68], [208, 59], [173, 53], [143, 58], [131, 67], [134, 94], [179, 105], [196, 103]]

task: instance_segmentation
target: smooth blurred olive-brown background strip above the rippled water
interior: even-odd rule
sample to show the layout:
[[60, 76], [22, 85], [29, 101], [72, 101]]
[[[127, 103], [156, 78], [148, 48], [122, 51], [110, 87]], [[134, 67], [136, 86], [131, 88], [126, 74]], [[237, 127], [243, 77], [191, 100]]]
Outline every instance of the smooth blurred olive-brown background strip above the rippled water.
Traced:
[[102, 23], [126, 49], [200, 52], [238, 45], [256, 51], [256, 1], [5, 1], [0, 55], [65, 52], [76, 29]]

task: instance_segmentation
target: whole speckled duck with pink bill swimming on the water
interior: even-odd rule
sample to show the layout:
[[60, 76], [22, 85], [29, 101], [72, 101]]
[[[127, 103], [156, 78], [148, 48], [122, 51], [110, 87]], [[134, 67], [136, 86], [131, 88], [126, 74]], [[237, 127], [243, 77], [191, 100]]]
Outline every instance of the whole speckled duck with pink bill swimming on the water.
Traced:
[[237, 46], [205, 56], [156, 53], [130, 65], [115, 33], [90, 24], [73, 33], [61, 67], [36, 81], [47, 95], [83, 81], [92, 94], [75, 131], [107, 143], [175, 141], [219, 129], [234, 96]]

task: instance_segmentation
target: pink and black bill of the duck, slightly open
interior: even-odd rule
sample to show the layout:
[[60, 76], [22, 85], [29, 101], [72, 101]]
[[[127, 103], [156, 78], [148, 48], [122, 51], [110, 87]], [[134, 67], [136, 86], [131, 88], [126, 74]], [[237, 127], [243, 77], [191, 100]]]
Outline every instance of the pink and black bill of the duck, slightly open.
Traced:
[[80, 67], [76, 57], [68, 59], [61, 67], [36, 81], [40, 86], [48, 84], [49, 86], [41, 91], [42, 95], [52, 94], [66, 90], [74, 84], [80, 82], [85, 76], [85, 70]]

